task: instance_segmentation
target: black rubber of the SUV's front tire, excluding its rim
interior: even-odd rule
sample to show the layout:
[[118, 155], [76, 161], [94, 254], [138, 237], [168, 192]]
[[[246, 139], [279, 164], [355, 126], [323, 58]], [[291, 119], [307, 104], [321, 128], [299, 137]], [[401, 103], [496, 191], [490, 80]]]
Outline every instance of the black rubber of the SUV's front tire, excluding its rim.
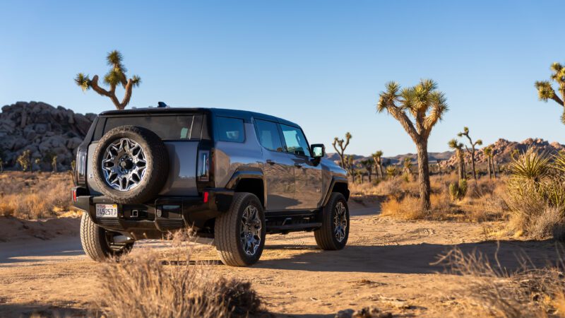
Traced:
[[[336, 208], [339, 204], [342, 204], [345, 208], [345, 235], [338, 239], [336, 233], [335, 216], [338, 213]], [[349, 208], [347, 207], [347, 201], [345, 196], [340, 193], [333, 192], [330, 196], [328, 204], [323, 207], [322, 211], [322, 226], [318, 230], [314, 231], [314, 237], [316, 238], [316, 245], [321, 249], [326, 250], [336, 250], [343, 249], [347, 245], [347, 238], [349, 237]]]

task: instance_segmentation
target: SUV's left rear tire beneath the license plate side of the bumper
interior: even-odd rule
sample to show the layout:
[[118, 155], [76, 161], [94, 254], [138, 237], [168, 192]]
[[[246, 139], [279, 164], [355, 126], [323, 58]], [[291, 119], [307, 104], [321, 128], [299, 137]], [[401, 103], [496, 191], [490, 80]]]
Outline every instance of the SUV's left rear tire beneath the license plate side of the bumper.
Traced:
[[119, 235], [96, 225], [90, 218], [90, 214], [83, 213], [81, 219], [81, 244], [84, 252], [95, 261], [104, 261], [112, 257], [120, 257], [127, 254], [133, 247], [133, 242], [125, 245], [112, 245], [108, 242], [109, 237]]

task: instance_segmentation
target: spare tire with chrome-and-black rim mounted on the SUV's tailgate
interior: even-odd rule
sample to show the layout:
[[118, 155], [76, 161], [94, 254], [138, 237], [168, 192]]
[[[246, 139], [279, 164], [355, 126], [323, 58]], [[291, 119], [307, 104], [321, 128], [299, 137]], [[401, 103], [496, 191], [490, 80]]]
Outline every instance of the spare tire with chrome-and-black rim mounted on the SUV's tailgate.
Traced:
[[143, 204], [165, 185], [169, 153], [153, 131], [118, 126], [98, 141], [93, 172], [98, 189], [112, 201]]

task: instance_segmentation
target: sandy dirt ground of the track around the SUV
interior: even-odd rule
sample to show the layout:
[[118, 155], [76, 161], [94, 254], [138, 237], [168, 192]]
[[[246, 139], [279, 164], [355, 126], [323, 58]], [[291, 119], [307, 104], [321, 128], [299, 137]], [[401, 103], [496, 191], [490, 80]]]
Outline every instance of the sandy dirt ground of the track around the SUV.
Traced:
[[[501, 263], [510, 269], [518, 266], [521, 253], [537, 266], [554, 261], [549, 240], [503, 238], [498, 247], [485, 235], [496, 223], [400, 221], [379, 216], [378, 206], [351, 206], [350, 240], [342, 251], [316, 249], [311, 232], [297, 232], [269, 235], [261, 261], [249, 268], [218, 264], [210, 246], [199, 245], [196, 256], [215, 261], [218, 274], [251, 281], [266, 310], [277, 317], [333, 317], [339, 310], [369, 305], [398, 317], [478, 316], [460, 293], [470, 278], [430, 265], [438, 254], [457, 245], [492, 259], [499, 248]], [[0, 219], [0, 317], [33, 312], [81, 317], [95, 299], [97, 264], [81, 249], [79, 220], [48, 222], [53, 224]], [[6, 235], [8, 225], [11, 232], [19, 228], [28, 235]], [[60, 234], [49, 234], [51, 227]], [[166, 248], [167, 242], [138, 242], [134, 252], [147, 247]]]

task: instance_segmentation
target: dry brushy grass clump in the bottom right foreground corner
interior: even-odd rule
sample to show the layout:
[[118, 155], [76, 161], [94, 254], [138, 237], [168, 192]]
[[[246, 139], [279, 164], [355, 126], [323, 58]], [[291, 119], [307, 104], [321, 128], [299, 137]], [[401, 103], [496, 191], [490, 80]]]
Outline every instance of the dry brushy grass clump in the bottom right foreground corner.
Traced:
[[492, 317], [565, 317], [563, 260], [558, 266], [509, 271], [496, 259], [492, 264], [480, 252], [453, 249], [436, 264], [451, 266], [451, 273], [470, 276], [462, 296], [471, 306]]

